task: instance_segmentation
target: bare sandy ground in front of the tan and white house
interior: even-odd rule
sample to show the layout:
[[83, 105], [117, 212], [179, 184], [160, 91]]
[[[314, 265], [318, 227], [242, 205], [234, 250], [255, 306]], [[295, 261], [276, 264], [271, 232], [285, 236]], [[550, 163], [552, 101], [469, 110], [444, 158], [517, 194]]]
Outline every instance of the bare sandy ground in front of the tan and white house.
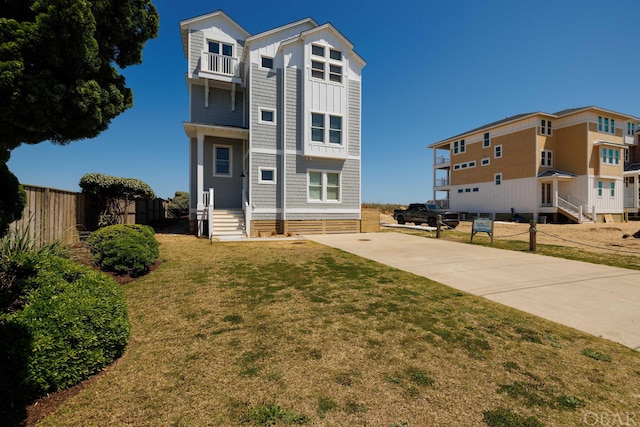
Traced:
[[[380, 223], [396, 224], [391, 215], [380, 214]], [[413, 225], [413, 224], [411, 224]], [[456, 230], [471, 236], [471, 222], [462, 222]], [[640, 230], [640, 222], [613, 224], [538, 224], [537, 242], [581, 248], [591, 252], [620, 252], [640, 256], [640, 239], [622, 236]], [[483, 233], [484, 234], [484, 233]], [[486, 234], [485, 234], [486, 236]], [[494, 223], [494, 239], [529, 241], [529, 224]]]

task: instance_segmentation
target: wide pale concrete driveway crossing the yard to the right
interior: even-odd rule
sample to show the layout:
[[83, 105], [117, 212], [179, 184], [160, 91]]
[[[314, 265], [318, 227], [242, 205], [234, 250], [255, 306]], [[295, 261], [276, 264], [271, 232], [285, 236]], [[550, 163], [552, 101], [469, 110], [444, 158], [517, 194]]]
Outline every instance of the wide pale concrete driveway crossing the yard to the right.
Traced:
[[304, 237], [640, 350], [640, 271], [401, 233]]

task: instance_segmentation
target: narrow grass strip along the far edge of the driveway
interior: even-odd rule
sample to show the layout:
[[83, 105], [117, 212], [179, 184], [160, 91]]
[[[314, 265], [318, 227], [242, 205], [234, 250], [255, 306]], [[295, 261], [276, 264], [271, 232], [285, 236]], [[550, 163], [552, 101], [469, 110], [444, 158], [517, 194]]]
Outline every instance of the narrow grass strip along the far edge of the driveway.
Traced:
[[[396, 232], [411, 234], [426, 238], [435, 238], [435, 233], [425, 233], [424, 231], [411, 230], [411, 229], [398, 229], [383, 230], [386, 232]], [[446, 230], [441, 237], [443, 240], [448, 240], [458, 243], [469, 243], [469, 233], [463, 233], [457, 230]], [[508, 239], [491, 239], [484, 234], [477, 234], [473, 238], [473, 245], [488, 246], [496, 249], [506, 249], [518, 252], [529, 252], [529, 242], [521, 240], [508, 240]], [[590, 252], [583, 249], [572, 248], [561, 245], [548, 245], [540, 244], [536, 245], [536, 254], [547, 255], [557, 258], [570, 259], [574, 261], [584, 261], [593, 264], [608, 265], [611, 267], [628, 268], [632, 270], [640, 270], [640, 257], [637, 255], [626, 255], [621, 253], [599, 253]]]

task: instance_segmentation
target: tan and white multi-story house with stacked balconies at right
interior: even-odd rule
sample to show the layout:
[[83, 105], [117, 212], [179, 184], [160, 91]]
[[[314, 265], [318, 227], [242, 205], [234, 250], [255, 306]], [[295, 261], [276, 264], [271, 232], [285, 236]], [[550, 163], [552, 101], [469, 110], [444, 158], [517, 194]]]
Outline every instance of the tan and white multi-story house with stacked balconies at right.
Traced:
[[640, 210], [638, 122], [598, 107], [537, 112], [429, 145], [434, 199], [471, 216], [621, 221]]

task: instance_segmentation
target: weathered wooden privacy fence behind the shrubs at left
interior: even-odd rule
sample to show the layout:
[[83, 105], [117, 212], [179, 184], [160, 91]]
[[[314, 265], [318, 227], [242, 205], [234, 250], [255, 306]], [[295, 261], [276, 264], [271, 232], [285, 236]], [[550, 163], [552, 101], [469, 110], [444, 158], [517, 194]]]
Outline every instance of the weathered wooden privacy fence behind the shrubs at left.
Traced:
[[[22, 219], [11, 224], [19, 231], [29, 230], [38, 245], [55, 240], [76, 243], [80, 233], [97, 228], [99, 207], [83, 193], [23, 185], [27, 204]], [[122, 201], [124, 203], [124, 201]], [[120, 219], [123, 224], [149, 224], [165, 218], [166, 202], [162, 199], [139, 200], [128, 206]]]

